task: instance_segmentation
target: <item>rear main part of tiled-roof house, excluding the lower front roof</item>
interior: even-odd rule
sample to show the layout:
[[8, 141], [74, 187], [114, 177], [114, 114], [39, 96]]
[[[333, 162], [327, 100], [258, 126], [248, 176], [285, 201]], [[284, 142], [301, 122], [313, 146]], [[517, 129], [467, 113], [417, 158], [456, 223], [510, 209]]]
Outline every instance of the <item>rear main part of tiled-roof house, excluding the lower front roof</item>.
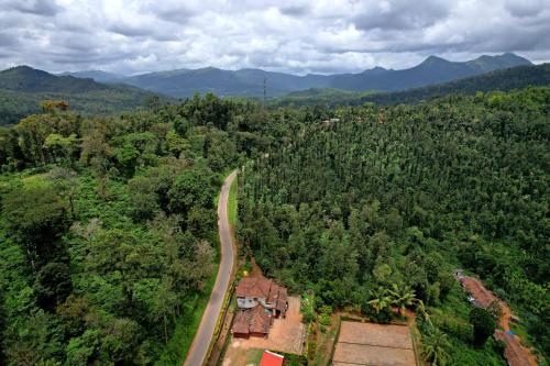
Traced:
[[265, 277], [244, 277], [235, 288], [239, 309], [252, 309], [257, 306], [272, 312], [273, 317], [286, 317], [288, 293], [286, 287]]

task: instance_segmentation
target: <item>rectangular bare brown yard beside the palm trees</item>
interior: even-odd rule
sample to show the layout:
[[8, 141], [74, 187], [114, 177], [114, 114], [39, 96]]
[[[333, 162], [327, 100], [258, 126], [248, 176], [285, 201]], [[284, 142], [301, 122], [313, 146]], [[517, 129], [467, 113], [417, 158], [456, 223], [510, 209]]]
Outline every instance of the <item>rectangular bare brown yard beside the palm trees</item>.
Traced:
[[343, 321], [332, 364], [415, 366], [409, 328]]

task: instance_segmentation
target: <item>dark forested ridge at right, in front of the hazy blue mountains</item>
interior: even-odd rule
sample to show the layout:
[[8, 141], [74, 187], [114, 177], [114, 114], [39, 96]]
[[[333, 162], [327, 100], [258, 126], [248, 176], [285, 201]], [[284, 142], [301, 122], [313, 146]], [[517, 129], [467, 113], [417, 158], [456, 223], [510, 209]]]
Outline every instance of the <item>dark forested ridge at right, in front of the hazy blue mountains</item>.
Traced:
[[474, 95], [477, 91], [509, 91], [526, 87], [550, 87], [550, 64], [517, 66], [494, 70], [444, 84], [394, 92], [351, 92], [338, 89], [295, 91], [271, 101], [272, 106], [356, 106], [365, 102], [382, 104], [416, 103], [449, 95]]

